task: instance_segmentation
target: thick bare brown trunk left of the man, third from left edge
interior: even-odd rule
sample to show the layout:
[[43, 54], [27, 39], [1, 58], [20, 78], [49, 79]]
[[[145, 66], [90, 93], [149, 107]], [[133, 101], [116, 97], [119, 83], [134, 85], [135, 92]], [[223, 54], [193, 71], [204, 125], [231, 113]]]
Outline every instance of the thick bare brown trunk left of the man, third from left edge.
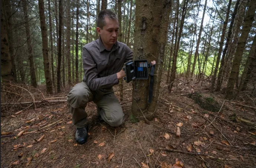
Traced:
[[38, 6], [39, 6], [40, 27], [41, 27], [41, 34], [42, 34], [43, 67], [45, 70], [46, 93], [53, 94], [52, 77], [50, 73], [50, 63], [49, 63], [47, 28], [46, 28], [46, 22], [45, 22], [45, 6], [43, 3], [43, 0], [39, 0], [38, 4], [39, 4]]

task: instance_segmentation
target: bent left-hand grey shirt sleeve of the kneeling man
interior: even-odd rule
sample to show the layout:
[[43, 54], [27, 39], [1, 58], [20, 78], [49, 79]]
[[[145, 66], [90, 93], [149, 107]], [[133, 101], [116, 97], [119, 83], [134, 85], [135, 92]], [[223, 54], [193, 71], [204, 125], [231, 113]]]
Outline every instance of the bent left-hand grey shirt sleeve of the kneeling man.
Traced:
[[83, 47], [82, 58], [85, 81], [90, 90], [95, 91], [99, 89], [109, 88], [119, 83], [116, 74], [101, 78], [98, 77], [97, 64], [85, 47]]

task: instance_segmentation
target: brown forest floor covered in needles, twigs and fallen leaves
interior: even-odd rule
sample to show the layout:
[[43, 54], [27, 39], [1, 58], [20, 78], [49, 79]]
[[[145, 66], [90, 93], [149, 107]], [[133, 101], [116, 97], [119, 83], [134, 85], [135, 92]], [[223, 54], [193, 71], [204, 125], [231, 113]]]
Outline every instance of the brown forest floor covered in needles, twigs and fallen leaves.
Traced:
[[[131, 83], [124, 85], [127, 89], [121, 104], [125, 122], [120, 127], [98, 121], [96, 105], [88, 103], [89, 138], [86, 144], [79, 145], [75, 142], [75, 127], [66, 102], [48, 101], [66, 100], [68, 87], [46, 96], [44, 86], [2, 85], [1, 89], [9, 92], [1, 95], [1, 167], [256, 167], [256, 110], [224, 101], [223, 92], [210, 94], [207, 80], [197, 84], [181, 78], [175, 81], [171, 92], [165, 83], [161, 87], [154, 120], [148, 124], [143, 118], [133, 123]], [[193, 92], [213, 98], [222, 106], [221, 110], [204, 110], [188, 97]], [[115, 94], [119, 97], [118, 91]], [[35, 101], [64, 98], [46, 99], [30, 107], [3, 105], [31, 101], [32, 97]], [[236, 102], [253, 106], [253, 99], [246, 95]], [[180, 137], [176, 136], [177, 124]]]

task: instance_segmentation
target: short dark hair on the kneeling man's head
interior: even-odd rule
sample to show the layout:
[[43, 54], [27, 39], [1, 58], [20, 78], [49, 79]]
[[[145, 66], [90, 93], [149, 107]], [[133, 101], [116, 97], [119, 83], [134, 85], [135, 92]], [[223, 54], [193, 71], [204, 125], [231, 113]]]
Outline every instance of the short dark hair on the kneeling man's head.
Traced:
[[109, 19], [118, 20], [116, 14], [112, 12], [111, 10], [104, 9], [99, 12], [98, 19], [97, 19], [97, 27], [103, 29], [103, 27], [106, 25], [105, 17], [108, 17]]

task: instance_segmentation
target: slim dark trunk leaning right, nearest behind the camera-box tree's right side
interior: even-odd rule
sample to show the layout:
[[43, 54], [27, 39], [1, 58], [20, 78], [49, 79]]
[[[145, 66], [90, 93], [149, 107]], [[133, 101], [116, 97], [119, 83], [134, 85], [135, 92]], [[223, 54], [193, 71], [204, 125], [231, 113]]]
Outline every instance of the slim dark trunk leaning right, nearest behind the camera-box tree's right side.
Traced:
[[[177, 1], [177, 3], [179, 3], [179, 0]], [[175, 54], [174, 54], [174, 59], [173, 59], [173, 66], [171, 68], [169, 90], [171, 90], [171, 88], [173, 87], [174, 79], [175, 79], [175, 75], [176, 75], [176, 69], [177, 69], [176, 64], [177, 64], [178, 50], [179, 50], [179, 46], [180, 46], [180, 38], [181, 38], [182, 31], [183, 31], [184, 20], [185, 20], [185, 16], [187, 13], [187, 6], [188, 6], [188, 0], [184, 0], [183, 7], [182, 7], [182, 14], [181, 14], [181, 22], [180, 22], [180, 26], [179, 26], [180, 30], [179, 30], [179, 34], [178, 34], [177, 44], [175, 45], [176, 48], [175, 48]], [[177, 10], [178, 10], [178, 7], [177, 7]], [[178, 20], [177, 20], [177, 23], [178, 23]], [[178, 30], [178, 27], [176, 27], [176, 31], [177, 30]]]

